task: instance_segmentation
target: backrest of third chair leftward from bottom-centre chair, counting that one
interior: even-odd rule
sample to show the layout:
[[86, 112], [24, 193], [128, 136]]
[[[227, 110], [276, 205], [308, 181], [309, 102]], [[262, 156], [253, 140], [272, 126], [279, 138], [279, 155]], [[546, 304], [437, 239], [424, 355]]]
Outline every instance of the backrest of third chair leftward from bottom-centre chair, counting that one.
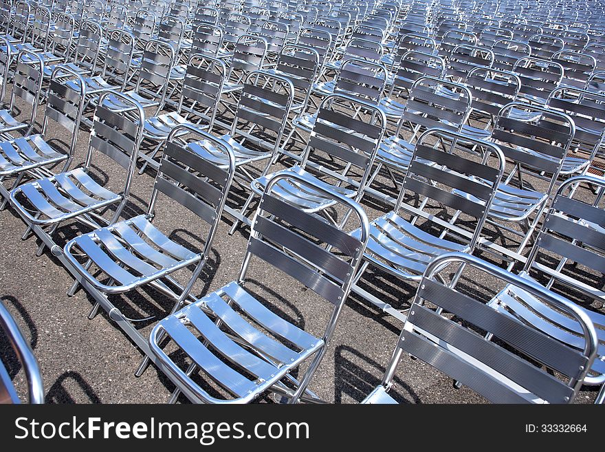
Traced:
[[[132, 109], [116, 111], [111, 108], [109, 96]], [[85, 168], [93, 164], [94, 154], [102, 153], [126, 170], [124, 201], [129, 197], [138, 151], [143, 139], [145, 114], [136, 100], [115, 91], [105, 91], [99, 96], [90, 132]]]

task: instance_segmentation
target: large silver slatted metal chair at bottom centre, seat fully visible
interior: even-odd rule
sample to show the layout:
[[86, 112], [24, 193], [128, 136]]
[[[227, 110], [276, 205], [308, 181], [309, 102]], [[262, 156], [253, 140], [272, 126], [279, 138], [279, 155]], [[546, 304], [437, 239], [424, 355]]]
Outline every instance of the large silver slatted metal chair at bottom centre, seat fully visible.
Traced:
[[[266, 392], [283, 396], [290, 403], [320, 402], [307, 388], [349, 295], [351, 275], [368, 237], [368, 220], [358, 204], [325, 189], [320, 189], [322, 196], [351, 211], [351, 222], [360, 225], [358, 237], [290, 206], [273, 194], [273, 188], [287, 180], [307, 184], [296, 174], [277, 175], [267, 184], [238, 279], [166, 317], [149, 336], [159, 368], [177, 385], [177, 391], [183, 391], [193, 402], [245, 403]], [[259, 285], [264, 293], [254, 297], [248, 289], [254, 282], [248, 275], [259, 265], [265, 270], [267, 265], [274, 267], [280, 275], [292, 277], [291, 281], [315, 292], [318, 302], [329, 302], [325, 330], [324, 325], [316, 328], [323, 331], [321, 335], [313, 336], [271, 310], [272, 303], [262, 297], [278, 288], [267, 288], [267, 292]], [[162, 339], [166, 336], [172, 343], [168, 346], [190, 358], [184, 367], [179, 365], [178, 354], [164, 347]], [[292, 371], [305, 362], [309, 365], [296, 380]], [[289, 389], [292, 385], [294, 389]]]

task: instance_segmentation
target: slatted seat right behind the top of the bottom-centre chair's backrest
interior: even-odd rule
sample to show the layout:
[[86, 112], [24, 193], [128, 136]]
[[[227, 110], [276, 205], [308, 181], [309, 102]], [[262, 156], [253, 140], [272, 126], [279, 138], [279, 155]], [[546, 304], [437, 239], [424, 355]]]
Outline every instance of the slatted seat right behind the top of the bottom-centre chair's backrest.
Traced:
[[291, 174], [296, 173], [300, 176], [303, 176], [307, 182], [309, 182], [310, 186], [299, 184], [298, 182], [294, 182], [290, 179], [280, 180], [273, 186], [272, 196], [277, 197], [278, 199], [284, 200], [289, 204], [293, 204], [294, 206], [300, 206], [307, 212], [317, 212], [325, 209], [333, 204], [336, 204], [336, 201], [333, 198], [329, 198], [322, 191], [315, 190], [311, 188], [318, 187], [320, 189], [325, 189], [328, 191], [336, 191], [341, 196], [344, 197], [355, 197], [357, 191], [351, 189], [345, 189], [340, 186], [335, 186], [328, 184], [327, 182], [323, 182], [318, 179], [308, 171], [305, 171], [300, 166], [292, 166], [291, 168], [285, 169], [283, 171], [278, 171], [277, 173], [268, 174], [262, 177], [257, 177], [252, 181], [252, 191], [257, 195], [262, 195], [263, 191], [265, 191], [265, 186], [272, 179], [272, 177], [278, 174]]

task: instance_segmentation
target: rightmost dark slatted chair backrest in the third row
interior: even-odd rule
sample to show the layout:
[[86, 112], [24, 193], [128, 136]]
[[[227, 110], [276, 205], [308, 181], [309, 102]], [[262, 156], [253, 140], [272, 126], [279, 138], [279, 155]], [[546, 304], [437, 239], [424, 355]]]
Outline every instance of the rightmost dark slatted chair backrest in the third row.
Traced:
[[[525, 114], [517, 117], [517, 112]], [[525, 116], [522, 117], [522, 116]], [[532, 118], [527, 120], [526, 118]], [[492, 139], [512, 162], [509, 173], [519, 177], [523, 169], [549, 180], [550, 193], [575, 134], [573, 119], [564, 113], [524, 103], [505, 105], [494, 124]]]

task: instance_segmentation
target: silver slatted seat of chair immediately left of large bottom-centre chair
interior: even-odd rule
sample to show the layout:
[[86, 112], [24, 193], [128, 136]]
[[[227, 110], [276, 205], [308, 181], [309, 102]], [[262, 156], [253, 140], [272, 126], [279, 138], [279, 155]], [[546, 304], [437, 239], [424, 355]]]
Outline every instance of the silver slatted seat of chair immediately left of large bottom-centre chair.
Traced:
[[[87, 281], [106, 293], [126, 292], [201, 259], [199, 254], [166, 237], [146, 215], [80, 235], [67, 242], [65, 255]], [[115, 284], [99, 281], [76, 256], [80, 256], [80, 261], [81, 257], [91, 259]]]

